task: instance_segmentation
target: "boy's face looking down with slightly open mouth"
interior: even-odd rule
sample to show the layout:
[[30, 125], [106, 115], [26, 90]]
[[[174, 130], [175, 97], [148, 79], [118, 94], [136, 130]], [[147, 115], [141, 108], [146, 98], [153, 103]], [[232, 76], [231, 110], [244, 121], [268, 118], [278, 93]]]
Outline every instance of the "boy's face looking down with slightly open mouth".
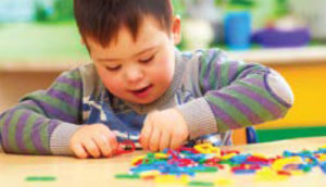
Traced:
[[[180, 21], [175, 18], [171, 35], [151, 16], [143, 18], [137, 40], [122, 27], [106, 48], [87, 39], [91, 59], [104, 86], [116, 97], [146, 104], [170, 87], [175, 68], [174, 45], [180, 39]], [[116, 41], [116, 42], [115, 42]]]

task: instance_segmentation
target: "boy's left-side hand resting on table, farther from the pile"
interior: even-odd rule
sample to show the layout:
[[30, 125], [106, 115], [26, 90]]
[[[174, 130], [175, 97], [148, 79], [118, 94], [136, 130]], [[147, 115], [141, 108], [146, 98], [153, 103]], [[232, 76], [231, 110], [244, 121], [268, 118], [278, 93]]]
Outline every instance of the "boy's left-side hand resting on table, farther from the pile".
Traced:
[[84, 125], [72, 136], [70, 146], [79, 159], [112, 157], [117, 149], [117, 140], [103, 124]]

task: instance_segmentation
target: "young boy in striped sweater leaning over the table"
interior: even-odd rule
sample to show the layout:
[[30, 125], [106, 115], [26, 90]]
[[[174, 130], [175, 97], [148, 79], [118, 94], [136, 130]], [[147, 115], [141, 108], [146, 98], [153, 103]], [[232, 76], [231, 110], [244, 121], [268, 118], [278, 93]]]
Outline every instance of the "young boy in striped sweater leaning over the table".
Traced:
[[124, 139], [151, 151], [283, 117], [284, 78], [221, 50], [183, 53], [170, 0], [75, 0], [92, 64], [65, 72], [0, 115], [5, 152], [112, 157]]

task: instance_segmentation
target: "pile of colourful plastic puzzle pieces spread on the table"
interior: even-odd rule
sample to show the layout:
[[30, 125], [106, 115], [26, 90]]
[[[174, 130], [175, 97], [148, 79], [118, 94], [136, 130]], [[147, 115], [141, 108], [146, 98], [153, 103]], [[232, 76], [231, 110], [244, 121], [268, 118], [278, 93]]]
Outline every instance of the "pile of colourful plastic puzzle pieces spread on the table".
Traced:
[[252, 174], [258, 180], [285, 180], [319, 167], [326, 174], [326, 146], [315, 151], [284, 151], [283, 155], [267, 158], [263, 154], [240, 153], [236, 150], [221, 150], [210, 144], [193, 148], [183, 147], [162, 152], [140, 155], [131, 161], [127, 174], [116, 178], [153, 179], [160, 184], [184, 184], [189, 186], [227, 185], [231, 180], [218, 178], [213, 183], [195, 180], [198, 173], [215, 173], [229, 170], [237, 175]]

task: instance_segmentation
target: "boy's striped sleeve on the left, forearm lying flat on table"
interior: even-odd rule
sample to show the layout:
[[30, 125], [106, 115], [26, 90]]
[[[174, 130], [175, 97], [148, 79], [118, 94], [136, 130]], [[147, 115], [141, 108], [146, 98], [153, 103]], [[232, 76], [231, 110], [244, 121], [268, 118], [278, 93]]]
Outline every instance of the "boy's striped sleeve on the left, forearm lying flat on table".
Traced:
[[3, 151], [72, 154], [68, 141], [80, 121], [82, 79], [78, 70], [63, 73], [48, 90], [27, 95], [0, 115]]

